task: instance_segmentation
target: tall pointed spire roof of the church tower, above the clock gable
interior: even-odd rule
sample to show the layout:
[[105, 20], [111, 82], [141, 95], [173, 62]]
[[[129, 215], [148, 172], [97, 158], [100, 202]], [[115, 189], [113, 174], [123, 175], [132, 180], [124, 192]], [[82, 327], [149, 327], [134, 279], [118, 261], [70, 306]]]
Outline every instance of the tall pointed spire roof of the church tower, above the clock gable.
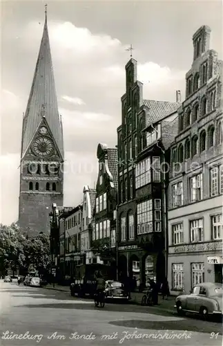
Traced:
[[63, 131], [58, 113], [55, 79], [52, 71], [47, 18], [43, 28], [43, 36], [26, 113], [23, 118], [21, 157], [26, 154], [43, 118], [46, 118], [61, 157], [64, 158]]

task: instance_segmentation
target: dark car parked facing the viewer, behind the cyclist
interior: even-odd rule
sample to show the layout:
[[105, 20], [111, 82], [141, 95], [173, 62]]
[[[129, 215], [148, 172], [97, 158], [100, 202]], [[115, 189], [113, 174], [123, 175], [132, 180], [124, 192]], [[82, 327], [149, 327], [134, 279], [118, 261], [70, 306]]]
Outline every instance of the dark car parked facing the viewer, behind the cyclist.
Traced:
[[108, 280], [106, 281], [105, 297], [106, 299], [119, 299], [127, 302], [130, 299], [130, 293], [126, 291], [122, 282]]

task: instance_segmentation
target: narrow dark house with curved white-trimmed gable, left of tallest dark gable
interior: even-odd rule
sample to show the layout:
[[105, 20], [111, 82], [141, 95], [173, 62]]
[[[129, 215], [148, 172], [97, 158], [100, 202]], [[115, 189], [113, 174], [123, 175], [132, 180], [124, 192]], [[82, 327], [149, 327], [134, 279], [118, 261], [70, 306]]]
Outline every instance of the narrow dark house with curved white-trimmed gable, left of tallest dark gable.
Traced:
[[117, 149], [99, 143], [94, 229], [91, 246], [95, 263], [116, 267]]

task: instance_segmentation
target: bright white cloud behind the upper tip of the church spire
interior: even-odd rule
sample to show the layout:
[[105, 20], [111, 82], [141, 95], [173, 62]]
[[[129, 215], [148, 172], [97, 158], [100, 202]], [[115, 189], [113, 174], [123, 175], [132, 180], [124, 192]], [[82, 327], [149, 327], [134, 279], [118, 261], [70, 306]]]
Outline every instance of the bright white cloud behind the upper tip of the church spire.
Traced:
[[[43, 25], [39, 25], [37, 21], [30, 21], [23, 27], [19, 36], [23, 37], [24, 45], [28, 40], [32, 49], [36, 51], [42, 32]], [[119, 39], [104, 33], [91, 33], [88, 28], [77, 27], [70, 21], [48, 21], [48, 32], [52, 51], [57, 51], [56, 59], [66, 60], [66, 62], [73, 62], [74, 57], [75, 62], [79, 58], [89, 60], [89, 57], [93, 61], [100, 55], [110, 55], [120, 50], [124, 52]]]

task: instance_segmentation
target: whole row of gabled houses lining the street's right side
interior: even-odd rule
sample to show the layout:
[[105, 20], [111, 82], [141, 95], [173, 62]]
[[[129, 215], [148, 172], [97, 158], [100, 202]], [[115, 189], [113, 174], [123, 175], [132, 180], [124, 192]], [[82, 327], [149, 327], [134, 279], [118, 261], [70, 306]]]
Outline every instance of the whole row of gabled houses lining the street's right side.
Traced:
[[168, 277], [173, 294], [221, 282], [222, 62], [210, 32], [193, 36], [184, 102], [180, 91], [175, 102], [144, 100], [136, 60], [126, 64], [117, 146], [99, 143], [96, 188], [57, 212], [55, 263], [67, 279], [104, 264], [138, 285]]

